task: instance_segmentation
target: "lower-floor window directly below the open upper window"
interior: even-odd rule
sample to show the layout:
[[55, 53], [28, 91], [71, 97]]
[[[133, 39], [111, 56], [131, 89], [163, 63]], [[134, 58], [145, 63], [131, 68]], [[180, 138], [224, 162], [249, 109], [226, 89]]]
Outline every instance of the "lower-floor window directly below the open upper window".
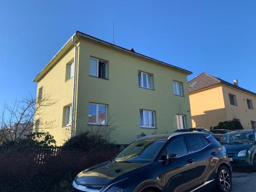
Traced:
[[88, 124], [105, 125], [106, 123], [106, 105], [98, 103], [89, 103]]

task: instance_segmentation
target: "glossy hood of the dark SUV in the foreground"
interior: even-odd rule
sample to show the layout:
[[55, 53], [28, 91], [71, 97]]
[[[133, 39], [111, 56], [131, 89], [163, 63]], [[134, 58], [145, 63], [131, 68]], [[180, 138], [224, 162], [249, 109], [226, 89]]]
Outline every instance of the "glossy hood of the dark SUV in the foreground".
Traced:
[[107, 161], [83, 170], [76, 176], [75, 182], [80, 185], [106, 185], [117, 177], [147, 164], [149, 163]]

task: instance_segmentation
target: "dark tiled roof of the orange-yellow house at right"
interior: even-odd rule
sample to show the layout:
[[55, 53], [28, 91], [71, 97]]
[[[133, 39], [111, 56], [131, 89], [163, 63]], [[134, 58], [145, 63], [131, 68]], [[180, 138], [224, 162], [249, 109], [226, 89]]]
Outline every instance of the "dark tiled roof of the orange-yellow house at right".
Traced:
[[223, 79], [220, 79], [218, 77], [211, 76], [207, 73], [201, 73], [194, 79], [188, 81], [188, 90], [189, 90], [189, 92], [193, 92], [193, 91], [197, 91], [200, 89], [216, 86], [217, 84], [221, 84], [221, 83], [226, 84], [226, 86], [230, 86], [230, 87], [236, 88], [241, 91], [245, 91], [247, 93], [250, 93], [250, 94], [256, 96], [256, 93], [254, 93], [254, 92], [243, 89], [239, 86], [235, 86], [234, 84], [232, 84], [230, 82], [224, 81]]

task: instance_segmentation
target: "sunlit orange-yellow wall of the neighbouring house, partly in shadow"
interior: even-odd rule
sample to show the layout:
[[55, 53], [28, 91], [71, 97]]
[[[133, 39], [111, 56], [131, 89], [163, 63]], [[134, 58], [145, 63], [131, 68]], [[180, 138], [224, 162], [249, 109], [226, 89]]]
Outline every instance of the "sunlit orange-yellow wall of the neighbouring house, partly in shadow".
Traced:
[[226, 119], [222, 86], [189, 94], [193, 127], [210, 129]]

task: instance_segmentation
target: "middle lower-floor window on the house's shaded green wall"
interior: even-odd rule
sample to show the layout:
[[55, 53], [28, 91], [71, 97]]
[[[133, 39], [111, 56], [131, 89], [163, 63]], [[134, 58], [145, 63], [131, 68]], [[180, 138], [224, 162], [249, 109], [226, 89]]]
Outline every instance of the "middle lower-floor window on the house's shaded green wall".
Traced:
[[155, 112], [140, 110], [140, 127], [155, 128]]

